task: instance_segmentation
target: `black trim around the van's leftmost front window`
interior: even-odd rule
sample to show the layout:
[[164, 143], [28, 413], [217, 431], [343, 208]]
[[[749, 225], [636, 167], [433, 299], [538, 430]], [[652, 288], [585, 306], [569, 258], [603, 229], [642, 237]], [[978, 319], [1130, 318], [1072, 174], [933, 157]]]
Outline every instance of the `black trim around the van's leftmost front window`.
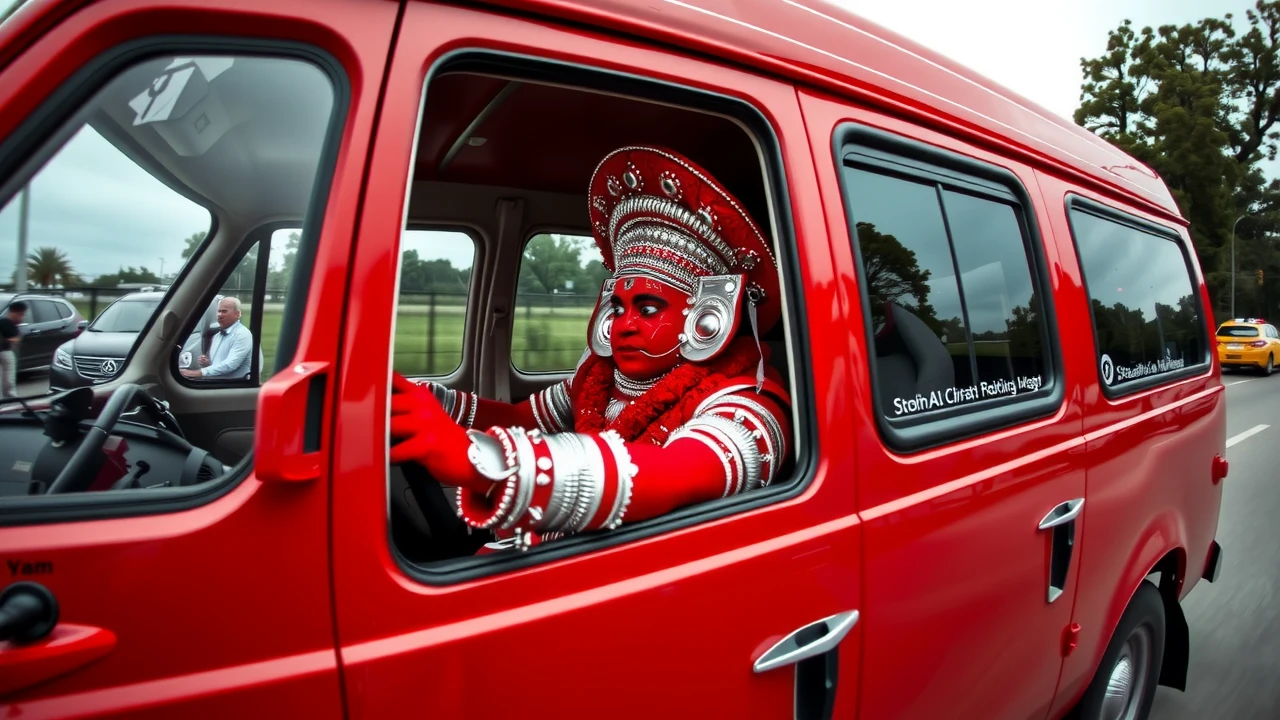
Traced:
[[[84, 111], [87, 102], [119, 77], [122, 72], [127, 70], [134, 63], [155, 58], [156, 55], [195, 54], [275, 56], [310, 63], [324, 73], [333, 86], [333, 109], [325, 131], [324, 146], [319, 152], [315, 186], [311, 190], [305, 218], [305, 223], [312, 227], [314, 232], [303, 234], [302, 242], [298, 245], [298, 255], [294, 263], [294, 275], [298, 278], [298, 282], [291, 283], [285, 299], [287, 307], [292, 304], [297, 310], [292, 314], [285, 311], [280, 323], [280, 345], [278, 347], [283, 348], [287, 346], [288, 357], [283, 352], [276, 356], [276, 366], [279, 368], [282, 363], [287, 364], [292, 360], [302, 333], [306, 297], [315, 268], [315, 238], [319, 237], [329, 209], [330, 188], [338, 172], [338, 155], [344, 142], [343, 128], [347, 126], [351, 114], [351, 79], [346, 67], [328, 50], [317, 45], [294, 40], [172, 33], [134, 38], [110, 47], [73, 72], [14, 128], [9, 137], [0, 141], [0, 178], [9, 178], [0, 182], [0, 202], [8, 202], [10, 197], [17, 195], [18, 190], [40, 173], [50, 158], [55, 156], [67, 145], [67, 141], [81, 127], [74, 120]], [[148, 169], [148, 172], [151, 170]], [[205, 241], [196, 246], [191, 258], [187, 263], [183, 263], [173, 282], [169, 283], [169, 290], [165, 291], [164, 297], [160, 300], [157, 311], [152, 313], [151, 318], [143, 324], [141, 332], [138, 332], [138, 338], [152, 332], [159, 318], [163, 315], [164, 307], [168, 306], [174, 290], [188, 281], [191, 269], [204, 255], [210, 240], [215, 237], [219, 229], [218, 214], [210, 209], [207, 201], [197, 197], [169, 173], [161, 170], [154, 177], [168, 184], [174, 192], [209, 210], [210, 228]], [[229, 274], [230, 269], [227, 269], [227, 273]], [[209, 297], [211, 299], [212, 293]], [[207, 306], [207, 299], [204, 302], [201, 307]], [[195, 322], [195, 319], [189, 320], [188, 329]], [[128, 365], [133, 360], [137, 346], [138, 342], [134, 342], [133, 347], [129, 348], [128, 355], [124, 357], [124, 365]], [[177, 360], [177, 352], [169, 356], [170, 364], [174, 360]], [[237, 465], [228, 468], [223, 478], [201, 486], [164, 487], [136, 493], [108, 491], [6, 497], [0, 502], [0, 528], [164, 515], [192, 510], [225, 496], [248, 478], [252, 471], [253, 452], [250, 451]]]

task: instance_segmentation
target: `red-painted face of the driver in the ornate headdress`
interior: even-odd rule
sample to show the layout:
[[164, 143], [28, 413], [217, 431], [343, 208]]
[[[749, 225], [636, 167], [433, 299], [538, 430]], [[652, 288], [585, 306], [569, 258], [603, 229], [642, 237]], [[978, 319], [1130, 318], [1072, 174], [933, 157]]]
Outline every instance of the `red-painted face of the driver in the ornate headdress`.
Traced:
[[611, 302], [609, 345], [623, 375], [649, 380], [680, 363], [687, 295], [658, 281], [628, 275], [618, 278]]

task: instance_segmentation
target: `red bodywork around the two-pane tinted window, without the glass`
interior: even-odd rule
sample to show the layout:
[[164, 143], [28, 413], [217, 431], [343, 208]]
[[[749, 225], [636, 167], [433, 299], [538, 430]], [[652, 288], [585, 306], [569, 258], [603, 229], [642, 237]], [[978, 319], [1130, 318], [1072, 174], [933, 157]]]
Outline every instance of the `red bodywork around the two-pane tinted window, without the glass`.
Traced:
[[[1034, 173], [1016, 161], [829, 96], [800, 96], [841, 288], [855, 307], [861, 291], [841, 168], [831, 150], [841, 123], [878, 127], [1005, 168], [1025, 186], [1029, 210], [1037, 217], [1044, 211]], [[1044, 258], [1052, 272], [1051, 245]], [[1037, 525], [1055, 506], [1085, 495], [1079, 378], [1057, 374], [1064, 400], [1047, 418], [896, 454], [878, 432], [861, 318], [860, 309], [850, 313], [847, 336], [860, 375], [852, 441], [868, 661], [859, 711], [864, 717], [1044, 717], [1059, 680], [1078, 565], [1071, 565], [1062, 596], [1047, 601], [1052, 538]], [[1068, 327], [1060, 324], [1057, 332], [1068, 337]]]

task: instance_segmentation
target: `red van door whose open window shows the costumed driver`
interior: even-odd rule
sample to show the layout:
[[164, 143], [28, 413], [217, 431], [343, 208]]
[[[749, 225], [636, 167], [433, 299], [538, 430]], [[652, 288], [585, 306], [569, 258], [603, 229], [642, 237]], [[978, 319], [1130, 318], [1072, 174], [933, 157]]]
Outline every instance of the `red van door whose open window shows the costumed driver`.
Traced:
[[[852, 457], [838, 441], [851, 432], [849, 386], [820, 329], [832, 309], [838, 318], [838, 302], [795, 88], [672, 50], [458, 5], [410, 3], [403, 23], [343, 318], [333, 548], [351, 716], [412, 708], [433, 717], [790, 717], [800, 703], [803, 717], [851, 717], [860, 550]], [[681, 122], [673, 113], [685, 113]], [[540, 287], [559, 291], [554, 304], [516, 297], [522, 247], [541, 232], [589, 234], [593, 168], [611, 150], [654, 137], [735, 163], [740, 176], [709, 172], [760, 188], [755, 217], [781, 238], [790, 273], [794, 314], [785, 323], [795, 334], [790, 343], [782, 334], [762, 342], [777, 343], [777, 360], [796, 378], [794, 469], [768, 488], [653, 521], [480, 555], [483, 541], [452, 532], [448, 496], [420, 478], [439, 502], [415, 503], [433, 530], [417, 530], [411, 547], [389, 520], [404, 492], [388, 497], [388, 370], [465, 366], [493, 340], [483, 334], [494, 325], [481, 323], [489, 319], [476, 313], [481, 301], [499, 318], [511, 316], [512, 304], [531, 318], [517, 347], [547, 342], [502, 357], [490, 373], [549, 384], [572, 370], [600, 281], [573, 293], [549, 279]], [[739, 143], [731, 154], [727, 142]], [[765, 179], [762, 167], [782, 169], [778, 147], [788, 149], [786, 172]], [[407, 227], [433, 225], [476, 229], [439, 233], [435, 242], [453, 245], [431, 255], [419, 240], [402, 245]], [[571, 247], [572, 237], [559, 237], [545, 247]], [[466, 295], [415, 295], [426, 286], [407, 283], [426, 281], [410, 269], [420, 273], [422, 258], [439, 258], [443, 287]], [[586, 261], [568, 264], [586, 272]], [[480, 277], [490, 278], [484, 297], [465, 284]], [[399, 305], [397, 281], [406, 283]], [[540, 324], [545, 331], [534, 333]], [[457, 355], [428, 361], [431, 338], [435, 354]], [[449, 543], [458, 551], [447, 552]]]

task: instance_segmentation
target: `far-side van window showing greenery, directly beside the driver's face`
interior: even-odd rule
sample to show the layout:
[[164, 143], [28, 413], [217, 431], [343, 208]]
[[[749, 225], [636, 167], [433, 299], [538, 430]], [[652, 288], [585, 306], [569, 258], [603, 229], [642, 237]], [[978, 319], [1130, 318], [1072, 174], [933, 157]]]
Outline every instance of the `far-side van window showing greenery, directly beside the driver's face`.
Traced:
[[590, 236], [535, 234], [520, 259], [511, 364], [526, 373], [572, 370], [609, 275]]

